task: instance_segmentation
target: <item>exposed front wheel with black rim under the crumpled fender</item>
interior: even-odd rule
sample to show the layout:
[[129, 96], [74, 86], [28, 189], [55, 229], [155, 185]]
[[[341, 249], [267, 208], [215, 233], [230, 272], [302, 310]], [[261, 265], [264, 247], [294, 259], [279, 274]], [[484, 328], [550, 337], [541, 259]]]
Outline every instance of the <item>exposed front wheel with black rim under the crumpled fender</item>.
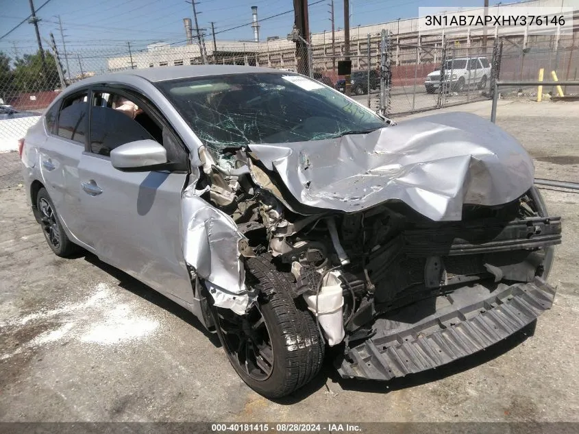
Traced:
[[[246, 270], [247, 285], [259, 285], [262, 296], [258, 299], [257, 305], [243, 316], [234, 314], [230, 309], [212, 307], [217, 335], [237, 374], [251, 389], [267, 398], [281, 398], [306, 385], [316, 376], [323, 363], [324, 344], [320, 339], [314, 317], [306, 308], [304, 300], [301, 298], [293, 300], [291, 282], [275, 269], [271, 263], [271, 256], [247, 258]], [[264, 326], [259, 319], [255, 320], [257, 315], [261, 315]], [[245, 321], [245, 328], [241, 326], [243, 332], [232, 331], [236, 327], [232, 322], [236, 320]], [[254, 328], [254, 322], [260, 325]], [[249, 333], [253, 335], [260, 329], [261, 335], [256, 338], [245, 335], [239, 339], [238, 336], [247, 333], [245, 330], [248, 325], [253, 330]], [[267, 348], [265, 334], [269, 337], [271, 352]], [[245, 344], [246, 358], [242, 365], [243, 354], [240, 357], [240, 354], [231, 347], [241, 348], [239, 342], [244, 338], [248, 342], [251, 341], [251, 344]], [[258, 348], [258, 357], [254, 359], [251, 352], [247, 352], [247, 348], [254, 351], [254, 356], [255, 348]], [[267, 358], [273, 363], [268, 363]], [[260, 363], [253, 363], [258, 359]], [[256, 369], [256, 365], [265, 365], [269, 368], [269, 372], [259, 366]], [[248, 366], [252, 368], [251, 372]]]

